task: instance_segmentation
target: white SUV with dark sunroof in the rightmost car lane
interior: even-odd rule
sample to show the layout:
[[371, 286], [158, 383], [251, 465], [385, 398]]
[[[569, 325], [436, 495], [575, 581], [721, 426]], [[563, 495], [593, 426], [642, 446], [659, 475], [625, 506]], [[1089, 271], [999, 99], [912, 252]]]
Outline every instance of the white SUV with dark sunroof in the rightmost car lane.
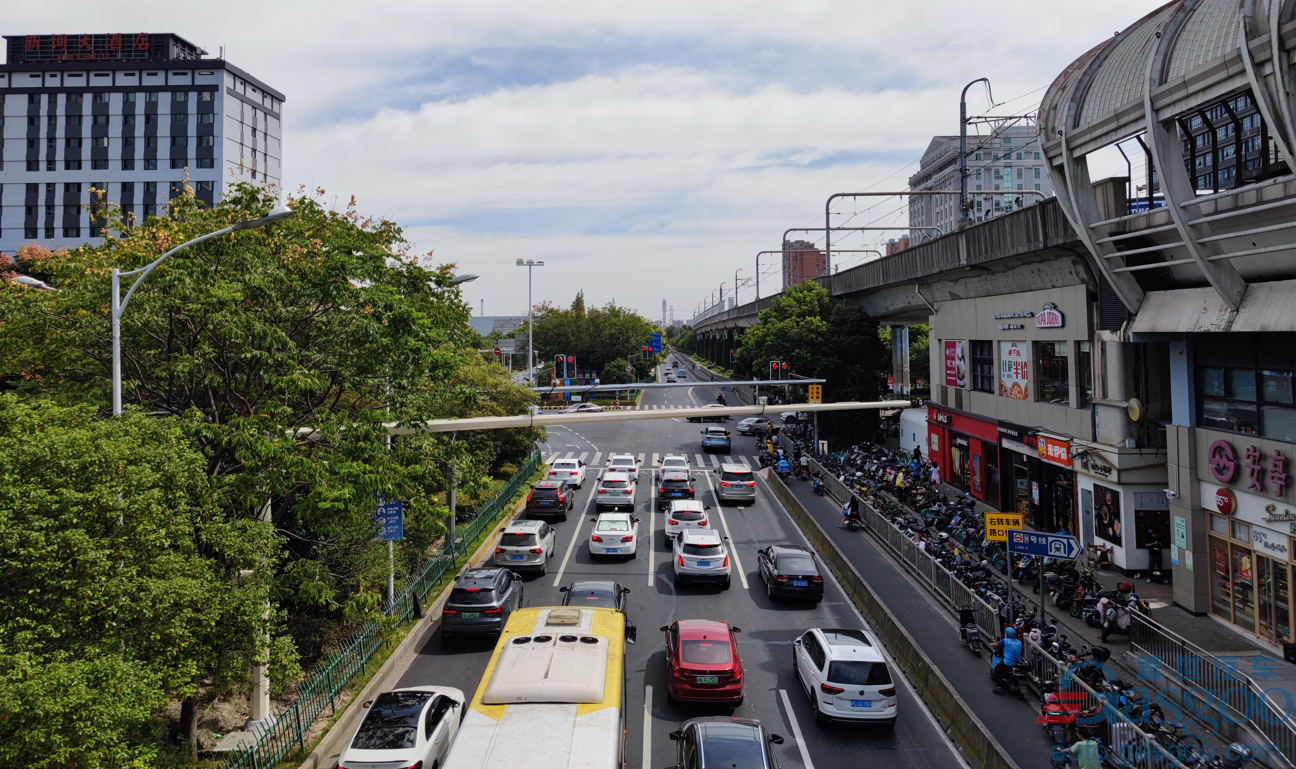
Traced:
[[792, 664], [815, 724], [831, 718], [896, 725], [896, 682], [866, 630], [814, 628], [792, 642]]

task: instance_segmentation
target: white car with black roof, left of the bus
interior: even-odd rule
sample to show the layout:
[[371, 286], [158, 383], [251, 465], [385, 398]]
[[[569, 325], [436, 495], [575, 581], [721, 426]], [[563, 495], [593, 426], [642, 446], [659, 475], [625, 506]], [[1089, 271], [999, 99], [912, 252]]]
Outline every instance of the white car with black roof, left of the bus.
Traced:
[[464, 692], [448, 686], [384, 691], [367, 712], [338, 766], [438, 766], [464, 715]]

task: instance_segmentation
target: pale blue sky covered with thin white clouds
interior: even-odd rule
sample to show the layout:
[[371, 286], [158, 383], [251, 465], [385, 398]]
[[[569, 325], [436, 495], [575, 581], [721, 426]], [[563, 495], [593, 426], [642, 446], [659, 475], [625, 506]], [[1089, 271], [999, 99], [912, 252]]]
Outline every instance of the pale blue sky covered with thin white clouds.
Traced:
[[[831, 193], [903, 189], [932, 135], [958, 131], [967, 82], [990, 78], [1001, 104], [976, 86], [969, 114], [1034, 114], [1063, 67], [1160, 3], [10, 5], [5, 35], [224, 47], [286, 95], [284, 185], [340, 206], [354, 195], [415, 253], [480, 275], [464, 285], [474, 314], [526, 313], [522, 257], [546, 262], [537, 303], [583, 290], [649, 319], [665, 300], [687, 319], [722, 284], [731, 297], [735, 272], [737, 301], [754, 298], [757, 252], [822, 227]], [[898, 198], [835, 210], [853, 226], [905, 220]], [[774, 255], [761, 271], [762, 296], [781, 287]]]

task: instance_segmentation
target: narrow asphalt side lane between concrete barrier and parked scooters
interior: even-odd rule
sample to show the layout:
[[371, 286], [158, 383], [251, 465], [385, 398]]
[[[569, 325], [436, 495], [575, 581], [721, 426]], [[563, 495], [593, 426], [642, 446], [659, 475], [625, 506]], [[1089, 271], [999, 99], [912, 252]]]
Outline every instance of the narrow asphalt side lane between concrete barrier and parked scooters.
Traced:
[[[819, 525], [832, 534], [841, 523], [836, 503], [829, 497], [815, 495], [807, 482], [793, 481], [789, 488]], [[989, 654], [982, 652], [977, 657], [959, 642], [953, 615], [943, 607], [933, 606], [936, 599], [910, 581], [907, 572], [889, 558], [871, 534], [841, 529], [835, 541], [874, 594], [908, 630], [927, 656], [937, 661], [941, 673], [972, 705], [1008, 755], [1023, 766], [1046, 761], [1052, 751], [1052, 742], [1034, 722], [1039, 716], [1037, 700], [1032, 698], [1021, 702], [991, 694], [994, 683], [990, 681]]]

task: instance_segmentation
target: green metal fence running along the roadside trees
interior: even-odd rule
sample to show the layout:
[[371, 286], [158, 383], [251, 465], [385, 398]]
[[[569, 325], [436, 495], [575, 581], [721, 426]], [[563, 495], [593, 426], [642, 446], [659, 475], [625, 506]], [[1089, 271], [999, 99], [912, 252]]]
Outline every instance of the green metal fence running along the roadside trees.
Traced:
[[[442, 549], [442, 552], [428, 559], [417, 577], [410, 580], [406, 589], [388, 606], [386, 615], [400, 622], [415, 615], [416, 602], [421, 606], [428, 594], [448, 573], [455, 571], [455, 558], [469, 552], [481, 538], [494, 528], [499, 515], [505, 512], [509, 501], [522, 484], [531, 477], [542, 464], [540, 453], [531, 454], [526, 464], [504, 484], [490, 502], [482, 506], [467, 525], [455, 532], [455, 542]], [[267, 729], [248, 750], [226, 756], [218, 769], [268, 769], [294, 750], [306, 750], [306, 733], [315, 718], [329, 708], [337, 713], [337, 694], [364, 670], [364, 665], [382, 648], [382, 634], [377, 622], [371, 622], [351, 635], [338, 651], [320, 660], [297, 687], [297, 702], [275, 717], [275, 724]]]

